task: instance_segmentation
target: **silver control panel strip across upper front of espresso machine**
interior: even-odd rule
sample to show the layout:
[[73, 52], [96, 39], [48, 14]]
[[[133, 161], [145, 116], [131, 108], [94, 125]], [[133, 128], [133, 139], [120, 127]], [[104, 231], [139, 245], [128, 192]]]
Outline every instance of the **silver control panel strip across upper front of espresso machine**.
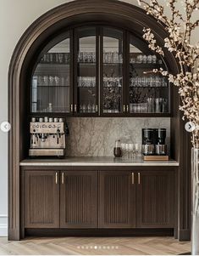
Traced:
[[30, 122], [30, 134], [64, 134], [64, 122]]

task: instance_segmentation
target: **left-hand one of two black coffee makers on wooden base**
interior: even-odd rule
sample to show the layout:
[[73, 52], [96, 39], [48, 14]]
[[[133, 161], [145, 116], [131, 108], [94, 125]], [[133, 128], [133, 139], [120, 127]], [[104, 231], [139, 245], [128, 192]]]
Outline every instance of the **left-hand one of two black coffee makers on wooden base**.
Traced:
[[154, 129], [142, 129], [142, 153], [144, 156], [152, 156], [155, 153]]

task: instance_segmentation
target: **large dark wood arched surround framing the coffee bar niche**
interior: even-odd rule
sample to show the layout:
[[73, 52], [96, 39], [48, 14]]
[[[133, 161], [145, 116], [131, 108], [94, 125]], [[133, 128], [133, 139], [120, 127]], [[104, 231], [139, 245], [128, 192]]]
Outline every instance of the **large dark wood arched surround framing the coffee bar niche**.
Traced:
[[[31, 68], [41, 47], [45, 46], [56, 33], [82, 23], [102, 21], [110, 26], [119, 26], [142, 36], [143, 27], [150, 27], [157, 37], [158, 43], [164, 45], [167, 32], [162, 23], [147, 15], [143, 9], [116, 0], [74, 1], [58, 6], [37, 19], [20, 38], [8, 71], [8, 121], [11, 130], [8, 136], [8, 239], [20, 239], [20, 179], [19, 162], [25, 159], [28, 152], [29, 120], [27, 106], [30, 104], [27, 95], [30, 88]], [[165, 61], [169, 70], [179, 71], [174, 55], [165, 50]], [[184, 122], [179, 111], [180, 99], [177, 88], [171, 89], [171, 156], [180, 162], [176, 198], [178, 198], [178, 216], [175, 223], [178, 232], [175, 237], [180, 240], [190, 239], [191, 227], [191, 157], [190, 138], [185, 132]], [[141, 115], [139, 114], [141, 117]], [[157, 115], [155, 115], [157, 116]], [[153, 116], [153, 117], [155, 117]], [[157, 116], [159, 117], [159, 116]], [[178, 224], [177, 224], [178, 223]]]

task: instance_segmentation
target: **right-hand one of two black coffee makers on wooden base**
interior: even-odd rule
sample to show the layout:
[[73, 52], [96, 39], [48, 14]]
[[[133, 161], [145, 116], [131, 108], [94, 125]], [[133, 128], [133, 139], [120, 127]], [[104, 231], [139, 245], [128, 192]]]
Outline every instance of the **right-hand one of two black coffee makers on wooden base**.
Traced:
[[155, 152], [158, 156], [167, 155], [167, 145], [165, 144], [166, 139], [166, 129], [158, 128], [154, 129], [154, 142], [155, 142]]

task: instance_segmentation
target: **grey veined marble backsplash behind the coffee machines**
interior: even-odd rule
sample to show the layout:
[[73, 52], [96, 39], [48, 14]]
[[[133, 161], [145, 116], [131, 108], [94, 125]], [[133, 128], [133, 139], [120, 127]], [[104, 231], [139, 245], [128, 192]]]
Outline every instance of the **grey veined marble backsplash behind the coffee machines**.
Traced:
[[116, 139], [141, 145], [142, 128], [166, 128], [170, 146], [170, 118], [69, 117], [66, 156], [113, 156]]

